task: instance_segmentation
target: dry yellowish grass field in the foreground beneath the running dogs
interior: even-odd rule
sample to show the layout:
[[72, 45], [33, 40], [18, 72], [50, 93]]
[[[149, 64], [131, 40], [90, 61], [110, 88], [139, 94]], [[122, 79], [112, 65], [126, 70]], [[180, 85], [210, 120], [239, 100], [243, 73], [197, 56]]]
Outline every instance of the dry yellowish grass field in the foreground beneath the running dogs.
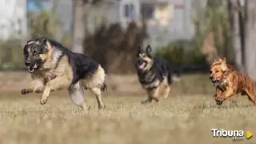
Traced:
[[68, 96], [59, 95], [54, 92], [41, 106], [40, 95], [2, 93], [0, 143], [229, 144], [232, 138], [213, 138], [210, 129], [256, 134], [255, 107], [246, 97], [217, 107], [210, 95], [180, 95], [148, 105], [140, 103], [146, 96], [107, 95], [106, 110], [98, 111], [96, 99], [87, 96], [92, 108], [84, 114]]

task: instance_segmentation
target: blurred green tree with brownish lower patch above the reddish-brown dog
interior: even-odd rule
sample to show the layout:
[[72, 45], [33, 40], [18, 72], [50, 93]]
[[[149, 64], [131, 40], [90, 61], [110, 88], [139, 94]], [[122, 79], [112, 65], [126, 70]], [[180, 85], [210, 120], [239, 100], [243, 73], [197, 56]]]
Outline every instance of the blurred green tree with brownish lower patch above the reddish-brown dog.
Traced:
[[218, 56], [226, 56], [233, 63], [230, 47], [230, 27], [226, 2], [222, 0], [206, 1], [202, 15], [194, 18], [196, 26], [195, 39], [203, 55], [210, 64]]

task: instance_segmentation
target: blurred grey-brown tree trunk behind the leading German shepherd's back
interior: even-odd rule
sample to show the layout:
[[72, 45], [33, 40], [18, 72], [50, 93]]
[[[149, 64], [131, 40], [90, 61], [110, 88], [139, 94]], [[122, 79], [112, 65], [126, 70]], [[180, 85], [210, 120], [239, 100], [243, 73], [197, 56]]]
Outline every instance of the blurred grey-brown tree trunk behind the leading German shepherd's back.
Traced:
[[83, 53], [83, 40], [86, 37], [83, 0], [73, 0], [73, 41], [72, 49], [75, 53]]

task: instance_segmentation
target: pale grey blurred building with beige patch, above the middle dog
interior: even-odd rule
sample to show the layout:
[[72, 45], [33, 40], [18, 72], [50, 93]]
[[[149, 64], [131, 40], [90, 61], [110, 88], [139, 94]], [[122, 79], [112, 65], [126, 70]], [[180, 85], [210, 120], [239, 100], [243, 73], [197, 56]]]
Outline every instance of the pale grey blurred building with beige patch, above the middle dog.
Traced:
[[140, 12], [149, 33], [146, 44], [160, 47], [194, 37], [191, 0], [141, 0]]

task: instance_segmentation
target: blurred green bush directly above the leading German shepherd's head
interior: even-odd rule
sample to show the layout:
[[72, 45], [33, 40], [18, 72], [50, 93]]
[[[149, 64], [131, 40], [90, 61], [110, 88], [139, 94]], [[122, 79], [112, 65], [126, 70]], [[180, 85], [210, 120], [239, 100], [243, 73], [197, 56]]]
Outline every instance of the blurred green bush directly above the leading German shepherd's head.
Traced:
[[28, 15], [30, 38], [56, 37], [60, 23], [54, 10], [42, 10], [40, 13]]

